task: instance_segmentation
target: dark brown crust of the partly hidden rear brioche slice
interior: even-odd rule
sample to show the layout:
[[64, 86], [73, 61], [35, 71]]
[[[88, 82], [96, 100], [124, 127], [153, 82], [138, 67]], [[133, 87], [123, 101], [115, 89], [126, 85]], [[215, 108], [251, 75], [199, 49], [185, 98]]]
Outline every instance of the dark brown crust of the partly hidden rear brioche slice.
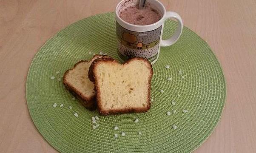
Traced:
[[[94, 57], [91, 58], [91, 60], [92, 59], [95, 60], [97, 58], [111, 58], [111, 57], [106, 56], [106, 55], [96, 54], [96, 55], [94, 55]], [[69, 84], [67, 79], [66, 79], [67, 74], [69, 73], [69, 71], [73, 70], [81, 62], [90, 62], [90, 61], [81, 60], [81, 61], [77, 62], [74, 65], [73, 68], [65, 71], [65, 73], [63, 75], [63, 84], [65, 85], [65, 88], [68, 89], [68, 91], [70, 91], [77, 99], [80, 99], [80, 101], [85, 106], [85, 108], [87, 108], [89, 110], [95, 110], [96, 109], [96, 96], [95, 96], [95, 94], [93, 96], [83, 96], [82, 92], [80, 92], [79, 90], [74, 88], [74, 86]]]

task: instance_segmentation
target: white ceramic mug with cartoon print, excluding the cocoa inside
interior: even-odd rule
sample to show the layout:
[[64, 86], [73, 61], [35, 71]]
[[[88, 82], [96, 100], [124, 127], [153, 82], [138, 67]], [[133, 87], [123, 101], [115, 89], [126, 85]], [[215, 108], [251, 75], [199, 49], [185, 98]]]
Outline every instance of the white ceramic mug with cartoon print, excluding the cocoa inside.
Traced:
[[[159, 57], [160, 47], [173, 45], [182, 33], [182, 19], [179, 14], [166, 11], [165, 7], [158, 0], [146, 0], [151, 7], [162, 14], [162, 18], [156, 23], [139, 26], [122, 20], [119, 12], [129, 6], [138, 5], [139, 0], [122, 0], [116, 7], [116, 33], [118, 55], [126, 61], [132, 57], [147, 58], [151, 64], [154, 64]], [[162, 40], [163, 26], [165, 20], [175, 18], [178, 21], [178, 27], [172, 37]]]

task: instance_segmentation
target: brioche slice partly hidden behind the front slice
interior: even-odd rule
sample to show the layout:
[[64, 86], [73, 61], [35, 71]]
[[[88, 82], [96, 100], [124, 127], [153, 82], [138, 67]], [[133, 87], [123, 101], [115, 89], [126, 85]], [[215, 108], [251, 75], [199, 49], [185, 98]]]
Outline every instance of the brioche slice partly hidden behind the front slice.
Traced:
[[88, 71], [91, 63], [97, 58], [111, 58], [108, 56], [95, 55], [90, 61], [80, 61], [65, 72], [63, 75], [63, 84], [71, 91], [77, 99], [80, 99], [89, 110], [96, 108], [96, 99], [94, 94], [94, 84], [88, 78]]

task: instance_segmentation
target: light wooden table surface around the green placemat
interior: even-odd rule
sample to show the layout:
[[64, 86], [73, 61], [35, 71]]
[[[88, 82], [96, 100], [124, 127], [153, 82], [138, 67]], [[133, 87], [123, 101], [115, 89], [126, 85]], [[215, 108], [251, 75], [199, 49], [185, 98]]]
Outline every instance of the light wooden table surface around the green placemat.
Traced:
[[[38, 49], [60, 29], [114, 11], [119, 0], [0, 0], [0, 152], [56, 153], [26, 104]], [[160, 0], [205, 39], [222, 65], [227, 100], [212, 135], [195, 153], [256, 152], [256, 1]]]

